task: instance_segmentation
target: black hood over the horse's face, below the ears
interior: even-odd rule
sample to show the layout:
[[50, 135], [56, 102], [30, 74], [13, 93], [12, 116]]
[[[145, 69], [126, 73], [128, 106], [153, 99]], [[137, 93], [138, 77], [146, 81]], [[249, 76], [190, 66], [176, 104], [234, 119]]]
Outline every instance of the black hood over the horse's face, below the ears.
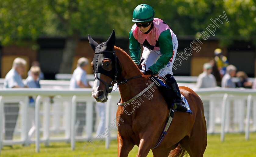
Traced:
[[[106, 70], [102, 67], [101, 63], [104, 59], [110, 59], [112, 63], [114, 62], [112, 64], [111, 70]], [[116, 53], [114, 51], [97, 51], [97, 52], [95, 52], [94, 58], [93, 58], [93, 71], [94, 71], [94, 76], [95, 76], [94, 81], [95, 81], [95, 79], [98, 79], [99, 81], [104, 83], [104, 85], [106, 86], [106, 91], [108, 93], [112, 92], [112, 88], [114, 86], [114, 85], [112, 86], [112, 83], [113, 82], [114, 82], [114, 84], [117, 83], [116, 80], [118, 80], [120, 78], [121, 69], [122, 69], [121, 64], [120, 64], [119, 59], [117, 58]], [[98, 73], [104, 74], [104, 75], [112, 78], [114, 81], [112, 81], [111, 83], [107, 83], [107, 82], [103, 81], [102, 79], [98, 78]]]

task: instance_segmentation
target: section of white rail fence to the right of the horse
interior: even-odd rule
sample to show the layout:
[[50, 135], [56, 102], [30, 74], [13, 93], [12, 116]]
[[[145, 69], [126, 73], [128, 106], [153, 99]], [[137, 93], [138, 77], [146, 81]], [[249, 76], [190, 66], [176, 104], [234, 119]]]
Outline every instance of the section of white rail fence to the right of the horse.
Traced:
[[209, 88], [195, 92], [203, 102], [209, 101], [208, 133], [218, 132], [219, 122], [221, 141], [226, 132], [245, 132], [248, 140], [249, 132], [256, 131], [256, 90]]

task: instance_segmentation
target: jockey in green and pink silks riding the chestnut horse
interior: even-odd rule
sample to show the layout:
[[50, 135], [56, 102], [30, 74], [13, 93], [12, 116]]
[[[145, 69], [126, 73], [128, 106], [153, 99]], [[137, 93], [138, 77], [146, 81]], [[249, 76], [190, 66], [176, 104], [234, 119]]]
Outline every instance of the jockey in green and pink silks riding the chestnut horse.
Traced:
[[142, 56], [145, 60], [141, 72], [144, 75], [163, 77], [169, 87], [176, 93], [175, 103], [177, 110], [186, 112], [187, 108], [181, 99], [180, 89], [172, 76], [172, 65], [175, 60], [178, 40], [169, 26], [161, 19], [154, 18], [154, 9], [146, 4], [138, 5], [133, 11], [132, 22], [135, 22], [130, 31], [130, 56], [136, 65], [140, 62], [140, 44], [143, 45]]

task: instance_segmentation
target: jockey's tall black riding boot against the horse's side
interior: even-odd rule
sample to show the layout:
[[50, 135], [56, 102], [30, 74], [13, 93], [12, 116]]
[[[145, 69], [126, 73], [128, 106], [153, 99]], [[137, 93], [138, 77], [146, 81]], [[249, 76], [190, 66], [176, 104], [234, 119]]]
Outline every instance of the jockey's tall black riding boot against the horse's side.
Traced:
[[167, 85], [171, 87], [171, 89], [175, 93], [174, 100], [177, 106], [176, 109], [181, 112], [187, 112], [187, 107], [181, 99], [180, 89], [175, 78], [171, 74], [167, 74], [163, 78], [165, 79], [165, 82], [167, 83]]

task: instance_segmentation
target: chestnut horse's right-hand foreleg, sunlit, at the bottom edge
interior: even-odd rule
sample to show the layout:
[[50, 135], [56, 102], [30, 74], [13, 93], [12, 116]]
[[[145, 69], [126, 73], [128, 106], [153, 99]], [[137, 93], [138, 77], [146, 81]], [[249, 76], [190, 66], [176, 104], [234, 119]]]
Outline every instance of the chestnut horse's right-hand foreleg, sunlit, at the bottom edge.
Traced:
[[136, 157], [146, 157], [151, 149], [152, 141], [153, 136], [150, 135], [149, 133], [147, 135], [142, 136], [142, 138], [140, 139], [139, 150]]

